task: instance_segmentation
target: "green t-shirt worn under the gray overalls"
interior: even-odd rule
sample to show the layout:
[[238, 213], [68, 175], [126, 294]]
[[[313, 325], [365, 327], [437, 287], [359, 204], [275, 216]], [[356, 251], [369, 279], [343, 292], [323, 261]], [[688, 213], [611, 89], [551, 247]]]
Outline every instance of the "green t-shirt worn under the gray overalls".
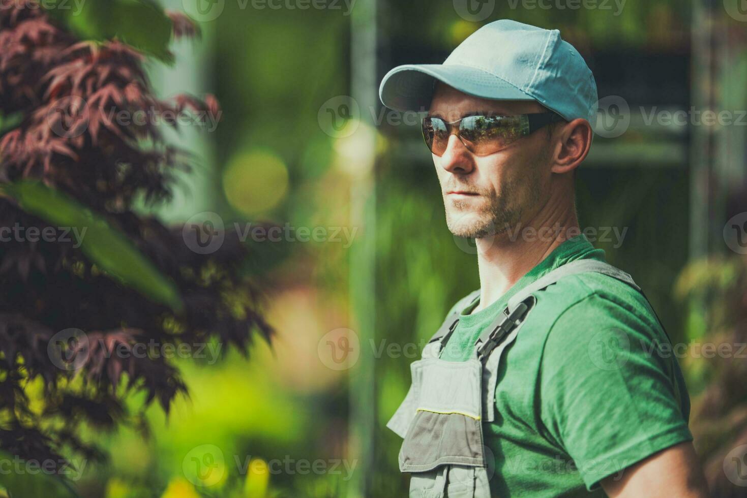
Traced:
[[[604, 261], [581, 234], [566, 240], [498, 301], [469, 314], [441, 358], [465, 361], [518, 290], [577, 259]], [[669, 343], [641, 293], [600, 273], [562, 278], [537, 303], [500, 361], [496, 420], [483, 424], [495, 456], [493, 496], [605, 496], [599, 481], [692, 440], [689, 397]]]

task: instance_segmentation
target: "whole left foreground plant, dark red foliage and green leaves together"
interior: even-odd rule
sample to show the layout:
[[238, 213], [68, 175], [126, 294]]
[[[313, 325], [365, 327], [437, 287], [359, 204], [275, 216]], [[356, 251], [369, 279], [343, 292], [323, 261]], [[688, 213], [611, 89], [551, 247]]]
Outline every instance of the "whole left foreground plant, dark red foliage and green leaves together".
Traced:
[[[246, 352], [254, 332], [270, 334], [248, 246], [229, 233], [201, 255], [182, 230], [135, 211], [167, 201], [173, 170], [190, 167], [164, 140], [161, 128], [179, 124], [167, 116], [219, 111], [209, 95], [158, 99], [143, 69], [148, 56], [172, 60], [172, 34], [196, 28], [146, 1], [87, 3], [85, 18], [0, 4], [0, 224], [25, 231], [0, 248], [0, 446], [25, 461], [103, 461], [110, 449], [85, 429], [145, 435], [151, 402], [168, 412], [187, 393], [173, 361], [134, 354], [136, 343]], [[80, 240], [33, 235], [61, 227]], [[22, 482], [6, 487], [31, 496]]]

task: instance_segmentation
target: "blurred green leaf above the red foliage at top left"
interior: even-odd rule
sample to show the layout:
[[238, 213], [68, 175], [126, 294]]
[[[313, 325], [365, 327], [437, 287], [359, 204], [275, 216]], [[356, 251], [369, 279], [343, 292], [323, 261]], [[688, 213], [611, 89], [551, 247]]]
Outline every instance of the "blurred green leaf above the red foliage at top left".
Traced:
[[151, 0], [48, 0], [50, 15], [84, 40], [117, 40], [165, 63], [169, 52], [171, 19]]

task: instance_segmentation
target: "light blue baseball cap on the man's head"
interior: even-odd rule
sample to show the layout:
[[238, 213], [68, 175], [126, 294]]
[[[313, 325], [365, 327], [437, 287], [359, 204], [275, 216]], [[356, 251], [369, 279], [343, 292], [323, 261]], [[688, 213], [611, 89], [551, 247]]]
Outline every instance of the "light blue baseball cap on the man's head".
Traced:
[[379, 98], [396, 111], [427, 111], [436, 81], [483, 99], [534, 100], [563, 118], [593, 123], [597, 85], [560, 31], [500, 19], [471, 34], [443, 64], [405, 64], [381, 81]]

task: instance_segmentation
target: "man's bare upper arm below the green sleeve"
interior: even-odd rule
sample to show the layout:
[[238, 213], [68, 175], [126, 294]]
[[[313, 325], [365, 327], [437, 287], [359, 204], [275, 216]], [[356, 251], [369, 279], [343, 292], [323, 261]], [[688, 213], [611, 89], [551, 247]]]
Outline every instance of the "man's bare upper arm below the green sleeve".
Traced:
[[601, 480], [611, 498], [708, 497], [708, 488], [692, 443], [675, 444], [627, 467], [622, 476]]

